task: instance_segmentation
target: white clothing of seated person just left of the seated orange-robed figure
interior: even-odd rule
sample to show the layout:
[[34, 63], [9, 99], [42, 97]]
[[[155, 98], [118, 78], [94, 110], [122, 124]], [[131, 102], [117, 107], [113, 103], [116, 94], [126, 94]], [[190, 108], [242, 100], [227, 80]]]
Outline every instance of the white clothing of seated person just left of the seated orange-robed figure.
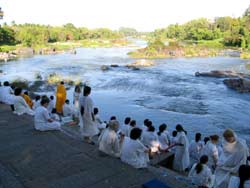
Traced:
[[14, 113], [17, 115], [29, 114], [34, 115], [34, 111], [30, 109], [29, 105], [26, 103], [22, 96], [14, 97]]

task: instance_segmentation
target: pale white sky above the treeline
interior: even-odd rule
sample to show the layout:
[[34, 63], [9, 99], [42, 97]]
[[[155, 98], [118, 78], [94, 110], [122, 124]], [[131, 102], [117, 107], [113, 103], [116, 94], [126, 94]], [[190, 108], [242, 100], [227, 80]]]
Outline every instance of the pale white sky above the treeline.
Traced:
[[249, 0], [0, 0], [0, 22], [153, 31], [195, 18], [239, 17]]

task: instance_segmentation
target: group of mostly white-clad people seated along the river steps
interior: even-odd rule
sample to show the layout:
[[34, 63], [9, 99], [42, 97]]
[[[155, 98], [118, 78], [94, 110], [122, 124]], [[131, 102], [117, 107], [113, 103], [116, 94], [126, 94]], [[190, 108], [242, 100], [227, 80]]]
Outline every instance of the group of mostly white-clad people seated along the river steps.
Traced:
[[[91, 91], [91, 88], [87, 89], [88, 91], [84, 91], [87, 93], [84, 95], [85, 99]], [[0, 87], [0, 102], [9, 104], [18, 115], [34, 115], [35, 129], [39, 131], [60, 130], [61, 120], [65, 116], [77, 115], [84, 121], [81, 109], [72, 108], [69, 100], [63, 105], [63, 113], [57, 114], [53, 96], [36, 96], [32, 101], [27, 92], [22, 92], [21, 88], [13, 91], [8, 82]], [[188, 177], [197, 186], [250, 187], [250, 171], [247, 165], [249, 149], [246, 142], [238, 138], [233, 130], [224, 131], [222, 146], [218, 145], [218, 135], [205, 137], [202, 141], [200, 133], [196, 133], [195, 140], [189, 144], [187, 131], [180, 124], [176, 125], [170, 135], [166, 124], [161, 124], [156, 130], [149, 119], [145, 119], [143, 125], [138, 125], [130, 117], [126, 117], [123, 124], [115, 116], [109, 122], [104, 122], [99, 117], [98, 108], [92, 107], [92, 101], [89, 109], [86, 106], [88, 102], [84, 102], [85, 112], [90, 110], [93, 113], [91, 121], [94, 123], [90, 126], [98, 128], [92, 135], [98, 136], [98, 147], [102, 154], [120, 158], [135, 168], [146, 168], [153, 156], [173, 152], [173, 169], [189, 172]]]

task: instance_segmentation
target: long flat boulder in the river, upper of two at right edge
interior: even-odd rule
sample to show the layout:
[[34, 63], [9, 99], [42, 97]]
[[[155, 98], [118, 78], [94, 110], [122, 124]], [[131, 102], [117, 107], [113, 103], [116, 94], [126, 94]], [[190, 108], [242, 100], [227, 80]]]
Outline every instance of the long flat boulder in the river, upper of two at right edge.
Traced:
[[214, 78], [250, 78], [249, 74], [237, 73], [235, 71], [196, 72], [195, 76], [214, 77]]

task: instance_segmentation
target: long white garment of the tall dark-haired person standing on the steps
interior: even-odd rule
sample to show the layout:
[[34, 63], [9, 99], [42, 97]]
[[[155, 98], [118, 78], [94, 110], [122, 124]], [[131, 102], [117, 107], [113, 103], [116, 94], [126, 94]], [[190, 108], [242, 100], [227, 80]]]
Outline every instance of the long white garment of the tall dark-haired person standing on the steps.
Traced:
[[89, 96], [83, 97], [80, 100], [80, 105], [84, 108], [82, 117], [82, 135], [85, 137], [92, 137], [99, 133], [99, 130], [92, 118], [93, 114], [93, 101]]

